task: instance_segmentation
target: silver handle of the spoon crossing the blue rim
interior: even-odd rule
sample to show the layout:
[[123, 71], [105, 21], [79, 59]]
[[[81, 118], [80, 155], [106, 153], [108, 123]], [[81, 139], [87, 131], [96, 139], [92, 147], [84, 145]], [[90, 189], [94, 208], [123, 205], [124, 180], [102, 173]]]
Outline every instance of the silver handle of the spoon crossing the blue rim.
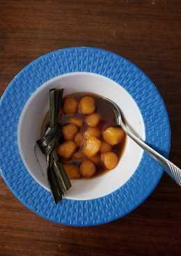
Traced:
[[143, 148], [148, 154], [155, 159], [160, 165], [162, 165], [165, 169], [165, 171], [168, 173], [173, 180], [175, 180], [178, 185], [181, 186], [181, 169], [178, 168], [178, 166], [175, 166], [172, 162], [170, 162], [168, 159], [160, 155], [157, 151], [152, 149], [149, 145], [147, 145], [144, 141], [142, 141], [140, 138], [138, 138], [136, 135], [132, 133], [125, 125], [121, 125], [125, 133], [131, 137], [138, 145]]

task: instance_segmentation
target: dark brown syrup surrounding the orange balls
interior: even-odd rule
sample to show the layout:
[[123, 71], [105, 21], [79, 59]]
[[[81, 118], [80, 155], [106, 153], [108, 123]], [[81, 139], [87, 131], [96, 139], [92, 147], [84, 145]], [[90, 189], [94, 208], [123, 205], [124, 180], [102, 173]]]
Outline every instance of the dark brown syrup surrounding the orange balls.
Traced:
[[[99, 95], [91, 94], [91, 93], [84, 93], [84, 92], [68, 95], [68, 97], [74, 97], [75, 99], [77, 99], [77, 101], [79, 101], [84, 96], [91, 96], [95, 99], [95, 106], [96, 106], [95, 113], [99, 113], [100, 117], [101, 117], [101, 120], [100, 120], [99, 124], [97, 125], [97, 127], [101, 131], [101, 134], [104, 131], [104, 129], [106, 129], [107, 127], [116, 126], [115, 118], [113, 115], [113, 111], [111, 110], [111, 107], [107, 104], [107, 101], [104, 101], [102, 99], [102, 97], [100, 97]], [[70, 118], [70, 117], [79, 117], [79, 118], [82, 118], [83, 120], [85, 120], [85, 118], [86, 118], [86, 116], [82, 115], [81, 113], [76, 113], [74, 115], [65, 115], [61, 111], [60, 118], [59, 118], [58, 122], [60, 123], [60, 125], [65, 125], [68, 123], [68, 118]], [[47, 113], [45, 120], [43, 122], [43, 125], [42, 125], [42, 134], [45, 134], [47, 123], [48, 123], [48, 113]], [[81, 127], [79, 132], [81, 134], [84, 134], [84, 131], [86, 131], [87, 128], [88, 128], [88, 125], [86, 124], [86, 122], [84, 122], [84, 125], [83, 125], [83, 127]], [[103, 141], [102, 136], [100, 137], [100, 140]], [[123, 155], [123, 150], [125, 148], [125, 142], [126, 142], [126, 136], [124, 137], [124, 140], [122, 141], [122, 143], [119, 143], [118, 145], [114, 145], [112, 147], [111, 151], [115, 152], [116, 155], [118, 156], [118, 158], [120, 158], [121, 155]], [[82, 148], [79, 148], [76, 152], [79, 152], [81, 150], [82, 150]], [[88, 159], [88, 158], [85, 157], [84, 159]], [[61, 158], [61, 162], [63, 164], [72, 163], [72, 164], [76, 164], [77, 166], [79, 166], [81, 164], [82, 160], [83, 159], [75, 160], [75, 159]], [[105, 171], [107, 171], [107, 169], [105, 169], [104, 166], [102, 164], [100, 164], [99, 166], [96, 166], [95, 176], [100, 175], [100, 174], [104, 173]]]

